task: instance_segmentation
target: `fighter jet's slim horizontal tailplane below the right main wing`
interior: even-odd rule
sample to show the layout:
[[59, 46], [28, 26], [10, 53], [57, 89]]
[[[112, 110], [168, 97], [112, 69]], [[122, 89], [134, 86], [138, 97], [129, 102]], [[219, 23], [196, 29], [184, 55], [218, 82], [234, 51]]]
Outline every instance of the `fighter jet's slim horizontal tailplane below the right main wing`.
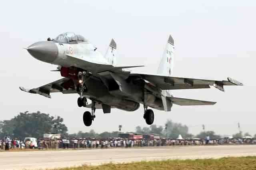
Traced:
[[200, 106], [200, 105], [214, 105], [216, 102], [209, 102], [203, 100], [193, 100], [193, 99], [184, 99], [184, 98], [174, 98], [174, 97], [166, 97], [172, 101], [173, 104], [179, 106]]

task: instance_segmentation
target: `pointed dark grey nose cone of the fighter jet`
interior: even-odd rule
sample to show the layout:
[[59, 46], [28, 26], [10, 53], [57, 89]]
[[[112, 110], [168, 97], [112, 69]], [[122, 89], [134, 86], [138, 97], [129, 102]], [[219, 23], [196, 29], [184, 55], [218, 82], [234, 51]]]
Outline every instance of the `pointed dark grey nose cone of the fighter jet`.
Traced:
[[27, 50], [34, 58], [46, 63], [52, 63], [58, 57], [58, 47], [52, 41], [34, 43], [30, 45]]

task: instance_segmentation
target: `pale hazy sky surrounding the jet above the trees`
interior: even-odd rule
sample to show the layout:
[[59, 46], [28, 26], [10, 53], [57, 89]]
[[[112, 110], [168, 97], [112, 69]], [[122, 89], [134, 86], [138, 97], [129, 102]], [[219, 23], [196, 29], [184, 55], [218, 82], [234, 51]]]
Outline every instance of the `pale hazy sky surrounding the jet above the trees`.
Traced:
[[78, 108], [78, 94], [52, 94], [52, 99], [24, 93], [19, 86], [36, 88], [60, 79], [57, 66], [37, 61], [22, 49], [37, 41], [73, 31], [84, 35], [103, 54], [114, 38], [118, 47], [118, 66], [145, 65], [134, 72], [156, 74], [168, 36], [175, 43], [173, 76], [226, 80], [229, 76], [245, 86], [174, 90], [181, 98], [209, 100], [214, 106], [173, 106], [171, 112], [154, 110], [154, 124], [167, 119], [186, 124], [189, 133], [213, 130], [221, 135], [241, 130], [256, 134], [255, 63], [256, 2], [215, 1], [4, 1], [1, 3], [0, 41], [0, 120], [20, 112], [41, 111], [64, 118], [69, 133], [134, 131], [148, 127], [143, 106], [137, 111], [96, 110], [91, 127], [85, 127]]

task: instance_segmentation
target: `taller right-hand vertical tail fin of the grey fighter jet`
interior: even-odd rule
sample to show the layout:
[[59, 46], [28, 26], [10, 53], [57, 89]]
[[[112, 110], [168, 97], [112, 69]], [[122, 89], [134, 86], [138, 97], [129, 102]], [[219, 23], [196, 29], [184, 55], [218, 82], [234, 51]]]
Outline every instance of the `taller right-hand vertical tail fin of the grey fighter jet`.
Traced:
[[157, 74], [162, 76], [171, 76], [173, 71], [173, 59], [174, 59], [174, 40], [170, 35], [168, 42], [164, 49], [164, 53], [161, 62], [158, 66]]

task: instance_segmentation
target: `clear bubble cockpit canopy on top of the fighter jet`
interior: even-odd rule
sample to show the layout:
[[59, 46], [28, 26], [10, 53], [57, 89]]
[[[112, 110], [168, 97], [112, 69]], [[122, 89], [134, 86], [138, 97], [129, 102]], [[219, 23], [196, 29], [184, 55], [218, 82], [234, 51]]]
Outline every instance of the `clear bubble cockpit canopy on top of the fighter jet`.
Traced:
[[86, 42], [88, 43], [88, 40], [85, 39], [82, 35], [76, 35], [73, 32], [66, 32], [58, 35], [54, 41], [60, 42], [60, 43], [81, 43]]

